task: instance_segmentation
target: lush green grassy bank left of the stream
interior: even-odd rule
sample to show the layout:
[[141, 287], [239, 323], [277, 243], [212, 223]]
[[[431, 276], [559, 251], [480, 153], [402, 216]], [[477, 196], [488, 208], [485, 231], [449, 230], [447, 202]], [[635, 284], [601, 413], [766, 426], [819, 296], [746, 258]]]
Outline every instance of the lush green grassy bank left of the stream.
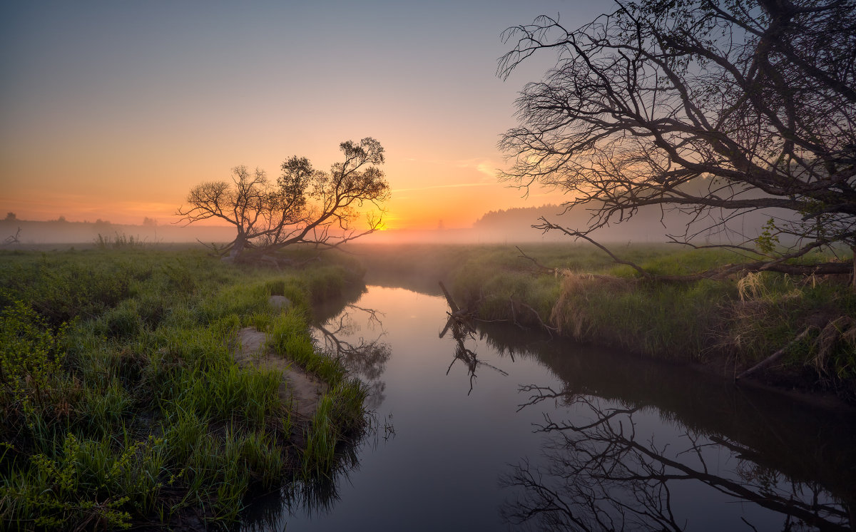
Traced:
[[[313, 300], [362, 272], [280, 272], [201, 251], [102, 245], [0, 253], [0, 520], [11, 529], [233, 523], [247, 492], [333, 476], [365, 390], [319, 355]], [[270, 295], [293, 302], [268, 304]], [[330, 384], [311, 420], [282, 375], [239, 367], [237, 332]]]

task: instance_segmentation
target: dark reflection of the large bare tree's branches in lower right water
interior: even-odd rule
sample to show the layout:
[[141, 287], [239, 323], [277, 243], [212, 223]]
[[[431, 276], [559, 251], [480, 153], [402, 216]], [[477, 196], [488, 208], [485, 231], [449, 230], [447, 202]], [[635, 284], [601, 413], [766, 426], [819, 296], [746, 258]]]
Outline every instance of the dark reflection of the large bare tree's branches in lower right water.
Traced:
[[[544, 415], [537, 431], [551, 434], [547, 463], [524, 461], [502, 478], [503, 485], [521, 488], [502, 507], [508, 523], [549, 530], [683, 530], [688, 523], [675, 516], [673, 500], [687, 488], [681, 481], [693, 481], [778, 512], [782, 530], [850, 529], [847, 505], [817, 483], [795, 482], [752, 462], [752, 450], [733, 441], [686, 430], [657, 442], [639, 429], [639, 408], [548, 387], [521, 390], [532, 393], [527, 405], [559, 400], [586, 421], [556, 423]], [[727, 463], [736, 462], [732, 470], [722, 463], [722, 452]], [[741, 520], [746, 529], [761, 529], [750, 518]]]

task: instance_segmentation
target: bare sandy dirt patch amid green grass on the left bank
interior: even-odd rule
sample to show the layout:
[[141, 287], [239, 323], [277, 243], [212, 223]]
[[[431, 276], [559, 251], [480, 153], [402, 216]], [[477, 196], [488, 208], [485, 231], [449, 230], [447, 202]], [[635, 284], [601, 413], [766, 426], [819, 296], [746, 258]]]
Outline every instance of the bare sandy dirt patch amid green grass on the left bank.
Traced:
[[232, 352], [235, 362], [241, 367], [253, 366], [281, 371], [279, 400], [283, 405], [290, 404], [298, 417], [311, 418], [318, 408], [318, 400], [327, 392], [327, 384], [267, 348], [266, 341], [267, 334], [259, 329], [241, 328], [238, 331], [237, 346]]

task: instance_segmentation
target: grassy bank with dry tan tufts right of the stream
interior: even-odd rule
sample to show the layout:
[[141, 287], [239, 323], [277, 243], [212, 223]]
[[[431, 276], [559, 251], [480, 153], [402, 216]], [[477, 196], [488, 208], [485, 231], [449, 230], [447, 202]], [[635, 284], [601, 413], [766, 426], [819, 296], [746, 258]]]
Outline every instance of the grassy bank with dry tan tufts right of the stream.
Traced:
[[[710, 364], [734, 376], [803, 340], [755, 378], [782, 387], [834, 391], [856, 399], [856, 294], [846, 279], [773, 273], [725, 281], [646, 281], [591, 246], [354, 246], [370, 276], [415, 285], [443, 280], [459, 304], [484, 320], [550, 328], [584, 342], [682, 363]], [[615, 251], [652, 273], [689, 274], [740, 257], [669, 245]], [[425, 281], [426, 278], [429, 281]], [[415, 286], [414, 285], [414, 286]]]

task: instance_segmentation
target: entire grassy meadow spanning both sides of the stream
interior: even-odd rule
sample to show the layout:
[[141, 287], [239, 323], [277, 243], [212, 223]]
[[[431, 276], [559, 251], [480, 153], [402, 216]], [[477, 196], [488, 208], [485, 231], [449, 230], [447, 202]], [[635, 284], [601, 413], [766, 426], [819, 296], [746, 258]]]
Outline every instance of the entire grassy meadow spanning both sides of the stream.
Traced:
[[[586, 246], [520, 250], [352, 245], [315, 261], [290, 251], [284, 269], [118, 238], [0, 251], [0, 518], [21, 530], [227, 527], [258, 494], [329, 483], [371, 415], [366, 387], [319, 352], [309, 323], [313, 305], [359, 295], [364, 275], [428, 293], [443, 281], [481, 322], [729, 378], [787, 347], [752, 379], [856, 399], [847, 279], [651, 281]], [[735, 261], [667, 245], [620, 254], [663, 275]], [[283, 402], [280, 371], [236, 363], [247, 327], [326, 383], [312, 416]]]

